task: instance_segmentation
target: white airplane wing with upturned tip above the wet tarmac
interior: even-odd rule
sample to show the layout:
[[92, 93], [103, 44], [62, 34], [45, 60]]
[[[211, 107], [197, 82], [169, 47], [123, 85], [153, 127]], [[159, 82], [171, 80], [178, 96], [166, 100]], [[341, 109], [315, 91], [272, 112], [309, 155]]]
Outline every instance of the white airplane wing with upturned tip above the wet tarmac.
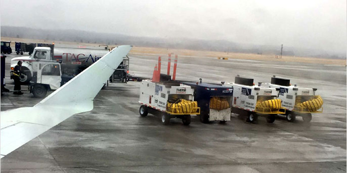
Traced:
[[91, 111], [93, 99], [132, 46], [118, 46], [33, 107], [1, 111], [1, 158], [70, 116]]

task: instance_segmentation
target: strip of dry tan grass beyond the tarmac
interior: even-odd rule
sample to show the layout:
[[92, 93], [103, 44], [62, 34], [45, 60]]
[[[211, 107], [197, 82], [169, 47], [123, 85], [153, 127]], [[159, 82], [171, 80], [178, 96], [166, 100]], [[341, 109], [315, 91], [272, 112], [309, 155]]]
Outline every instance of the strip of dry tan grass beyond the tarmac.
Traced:
[[[82, 46], [99, 46], [93, 43], [75, 43], [75, 42], [61, 42], [53, 40], [40, 40], [40, 39], [24, 39], [24, 38], [9, 38], [1, 37], [1, 40], [11, 41], [12, 51], [15, 49], [15, 42], [28, 42], [28, 43], [56, 43], [64, 45], [82, 45]], [[117, 45], [109, 45], [109, 47], [116, 47]], [[314, 57], [299, 57], [299, 56], [282, 56], [281, 59], [275, 58], [276, 55], [258, 55], [246, 53], [226, 53], [226, 52], [212, 52], [212, 51], [195, 51], [188, 49], [170, 49], [170, 48], [155, 48], [155, 47], [133, 47], [130, 53], [133, 54], [155, 54], [167, 56], [168, 53], [175, 53], [179, 56], [194, 56], [194, 57], [227, 57], [229, 59], [243, 59], [243, 60], [262, 60], [262, 61], [285, 61], [285, 62], [302, 62], [302, 63], [316, 63], [316, 64], [331, 64], [346, 66], [346, 60], [341, 59], [327, 59], [327, 58], [314, 58]]]

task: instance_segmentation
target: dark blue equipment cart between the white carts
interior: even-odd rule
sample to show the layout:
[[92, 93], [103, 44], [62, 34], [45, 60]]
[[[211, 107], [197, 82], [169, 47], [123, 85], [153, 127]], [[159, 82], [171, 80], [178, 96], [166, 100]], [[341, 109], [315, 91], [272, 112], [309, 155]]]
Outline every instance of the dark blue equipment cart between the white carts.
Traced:
[[194, 99], [200, 107], [200, 121], [230, 121], [232, 86], [226, 87], [201, 82], [183, 82], [195, 90]]

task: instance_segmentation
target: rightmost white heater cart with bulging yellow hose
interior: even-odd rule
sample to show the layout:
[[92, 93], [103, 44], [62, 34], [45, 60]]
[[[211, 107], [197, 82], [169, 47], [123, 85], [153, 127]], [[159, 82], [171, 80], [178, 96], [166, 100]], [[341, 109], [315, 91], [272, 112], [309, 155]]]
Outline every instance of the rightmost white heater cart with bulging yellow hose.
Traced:
[[279, 88], [278, 98], [282, 100], [282, 107], [286, 109], [287, 121], [294, 122], [296, 117], [302, 117], [304, 122], [312, 120], [311, 113], [323, 112], [323, 99], [315, 95], [316, 88], [301, 88], [291, 86], [290, 80], [271, 78], [271, 83], [259, 83], [260, 86]]

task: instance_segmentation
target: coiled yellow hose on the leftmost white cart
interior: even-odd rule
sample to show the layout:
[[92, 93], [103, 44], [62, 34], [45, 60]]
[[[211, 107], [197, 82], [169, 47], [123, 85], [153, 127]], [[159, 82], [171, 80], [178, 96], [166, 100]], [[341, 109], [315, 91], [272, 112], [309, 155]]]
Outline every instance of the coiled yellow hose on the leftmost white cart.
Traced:
[[167, 102], [166, 110], [173, 113], [195, 113], [197, 101], [179, 99], [175, 103]]

